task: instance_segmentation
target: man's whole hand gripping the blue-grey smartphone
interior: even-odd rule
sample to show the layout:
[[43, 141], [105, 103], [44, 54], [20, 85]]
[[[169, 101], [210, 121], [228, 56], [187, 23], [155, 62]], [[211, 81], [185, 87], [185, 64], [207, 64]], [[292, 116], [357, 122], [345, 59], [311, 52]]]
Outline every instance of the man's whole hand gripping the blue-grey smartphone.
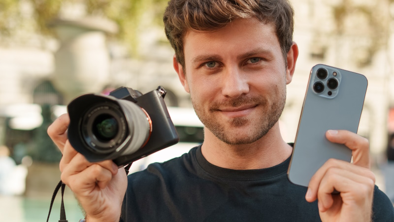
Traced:
[[[318, 199], [323, 222], [370, 222], [375, 175], [368, 140], [346, 130], [328, 130], [326, 137], [350, 148], [353, 163], [329, 159], [310, 180], [305, 199]], [[339, 194], [332, 194], [334, 190]]]

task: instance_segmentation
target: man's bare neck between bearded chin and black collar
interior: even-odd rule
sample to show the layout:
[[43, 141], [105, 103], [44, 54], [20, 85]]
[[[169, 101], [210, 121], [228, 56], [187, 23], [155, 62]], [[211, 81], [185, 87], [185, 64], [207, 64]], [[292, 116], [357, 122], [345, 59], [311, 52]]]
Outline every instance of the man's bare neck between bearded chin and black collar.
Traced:
[[292, 148], [283, 141], [278, 122], [266, 135], [251, 144], [229, 145], [215, 137], [207, 128], [202, 155], [213, 165], [234, 169], [263, 169], [278, 165], [292, 153]]

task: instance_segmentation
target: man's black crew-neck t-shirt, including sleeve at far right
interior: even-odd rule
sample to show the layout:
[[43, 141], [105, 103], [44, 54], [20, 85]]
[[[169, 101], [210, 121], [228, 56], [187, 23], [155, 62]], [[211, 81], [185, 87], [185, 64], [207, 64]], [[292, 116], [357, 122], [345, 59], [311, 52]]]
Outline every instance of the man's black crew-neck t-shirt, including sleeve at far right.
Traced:
[[[321, 221], [306, 187], [287, 178], [290, 158], [258, 170], [210, 164], [201, 147], [129, 175], [121, 222]], [[374, 222], [394, 222], [389, 198], [375, 186]]]

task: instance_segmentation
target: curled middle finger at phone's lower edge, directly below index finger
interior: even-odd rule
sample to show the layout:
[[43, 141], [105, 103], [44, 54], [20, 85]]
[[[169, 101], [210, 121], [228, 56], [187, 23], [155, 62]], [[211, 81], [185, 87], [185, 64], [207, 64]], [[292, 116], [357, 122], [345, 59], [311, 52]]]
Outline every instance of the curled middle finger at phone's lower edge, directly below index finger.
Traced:
[[[323, 177], [326, 175], [327, 171], [331, 168], [337, 168], [340, 170], [348, 171], [349, 173], [363, 175], [365, 177], [370, 178], [371, 180], [375, 181], [375, 175], [369, 169], [366, 169], [361, 166], [356, 166], [349, 162], [338, 160], [338, 159], [329, 159], [327, 162], [320, 167], [316, 173], [312, 176], [311, 180], [308, 184], [308, 191], [306, 193], [305, 199], [308, 202], [313, 202], [317, 198], [317, 191]], [[338, 190], [339, 191], [339, 190]]]

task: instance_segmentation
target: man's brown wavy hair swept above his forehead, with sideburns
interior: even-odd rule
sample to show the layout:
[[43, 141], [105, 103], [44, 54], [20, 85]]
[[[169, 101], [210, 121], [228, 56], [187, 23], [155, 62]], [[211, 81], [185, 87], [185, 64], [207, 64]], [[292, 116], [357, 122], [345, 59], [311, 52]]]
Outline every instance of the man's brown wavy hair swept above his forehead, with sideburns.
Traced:
[[232, 20], [251, 17], [275, 25], [286, 62], [294, 30], [294, 10], [288, 0], [170, 0], [163, 21], [176, 59], [185, 68], [183, 38], [189, 30], [214, 31]]

